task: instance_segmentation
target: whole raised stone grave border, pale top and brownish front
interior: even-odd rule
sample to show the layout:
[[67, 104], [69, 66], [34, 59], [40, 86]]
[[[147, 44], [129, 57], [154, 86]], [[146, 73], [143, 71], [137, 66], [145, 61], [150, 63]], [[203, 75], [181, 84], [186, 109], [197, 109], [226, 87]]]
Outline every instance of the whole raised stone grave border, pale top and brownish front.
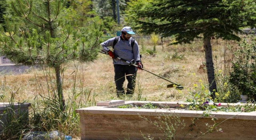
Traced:
[[[107, 101], [105, 101], [106, 103]], [[115, 100], [110, 100], [115, 102]], [[125, 101], [124, 104], [145, 104], [150, 101]], [[150, 102], [152, 104], [168, 105], [170, 107], [186, 106], [187, 102]], [[221, 106], [235, 104], [221, 103]], [[243, 104], [241, 104], [243, 105]], [[152, 121], [157, 121], [158, 116], [176, 116], [185, 122], [184, 128], [177, 128], [176, 139], [195, 140], [202, 132], [207, 132], [206, 124], [213, 125], [213, 118], [219, 123], [216, 130], [200, 136], [200, 140], [255, 140], [256, 139], [256, 112], [211, 112], [212, 117], [203, 117], [204, 111], [168, 110], [168, 109], [136, 109], [116, 108], [116, 105], [92, 106], [76, 110], [80, 114], [81, 140], [113, 140], [130, 139], [141, 140], [142, 134], [150, 134], [154, 140], [166, 137], [143, 116]], [[193, 120], [196, 120], [193, 122]], [[159, 121], [159, 120], [158, 120]], [[193, 124], [192, 127], [190, 127]], [[221, 128], [220, 131], [217, 131]], [[192, 130], [192, 131], [191, 131]], [[185, 135], [186, 133], [186, 135]]]

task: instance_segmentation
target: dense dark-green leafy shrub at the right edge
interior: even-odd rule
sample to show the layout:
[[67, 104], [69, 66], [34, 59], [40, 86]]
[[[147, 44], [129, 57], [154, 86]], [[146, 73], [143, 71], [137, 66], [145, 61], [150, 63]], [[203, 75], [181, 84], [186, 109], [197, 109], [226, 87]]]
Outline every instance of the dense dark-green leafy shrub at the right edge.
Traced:
[[256, 99], [256, 37], [244, 39], [234, 51], [235, 61], [229, 82], [240, 94]]

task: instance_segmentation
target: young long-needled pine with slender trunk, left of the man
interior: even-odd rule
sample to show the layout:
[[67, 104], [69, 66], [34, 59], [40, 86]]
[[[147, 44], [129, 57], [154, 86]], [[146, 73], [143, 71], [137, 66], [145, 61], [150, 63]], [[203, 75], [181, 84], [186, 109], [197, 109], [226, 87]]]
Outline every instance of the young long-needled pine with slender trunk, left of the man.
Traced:
[[5, 18], [6, 30], [0, 28], [0, 56], [17, 65], [54, 68], [60, 109], [65, 110], [62, 91], [62, 66], [70, 61], [93, 62], [100, 50], [101, 27], [93, 24], [85, 38], [62, 23], [66, 0], [15, 0], [12, 8], [32, 30], [17, 30]]

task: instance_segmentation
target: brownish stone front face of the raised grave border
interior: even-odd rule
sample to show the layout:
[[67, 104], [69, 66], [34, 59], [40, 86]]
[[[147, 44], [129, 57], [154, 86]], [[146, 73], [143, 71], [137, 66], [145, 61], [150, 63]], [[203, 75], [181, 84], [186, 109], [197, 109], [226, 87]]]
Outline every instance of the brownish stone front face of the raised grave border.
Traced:
[[[148, 120], [158, 122], [158, 125], [166, 129], [166, 125], [156, 116], [143, 116]], [[148, 122], [145, 118], [134, 115], [111, 114], [80, 114], [81, 140], [143, 140], [153, 137], [154, 140], [168, 139], [158, 127]], [[180, 120], [181, 122], [178, 122]], [[211, 118], [172, 118], [166, 121], [168, 126], [176, 127], [172, 131], [176, 140], [255, 140], [255, 120], [218, 119], [220, 125], [207, 132], [214, 124]], [[221, 130], [219, 130], [221, 128]], [[217, 131], [218, 130], [218, 131]], [[169, 133], [171, 136], [172, 133]], [[202, 136], [201, 136], [202, 135]], [[170, 138], [169, 138], [170, 139]]]

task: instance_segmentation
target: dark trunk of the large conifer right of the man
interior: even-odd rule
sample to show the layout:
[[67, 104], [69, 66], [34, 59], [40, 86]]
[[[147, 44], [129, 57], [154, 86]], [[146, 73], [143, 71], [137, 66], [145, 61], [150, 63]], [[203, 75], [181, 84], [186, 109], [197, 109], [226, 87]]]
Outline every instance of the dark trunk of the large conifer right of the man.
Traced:
[[211, 46], [211, 38], [204, 38], [204, 51], [205, 51], [205, 59], [206, 59], [206, 69], [208, 76], [208, 84], [209, 90], [212, 93], [212, 98], [215, 98], [215, 92], [217, 92], [217, 85], [215, 81], [214, 75], [214, 66], [212, 60], [212, 46]]

